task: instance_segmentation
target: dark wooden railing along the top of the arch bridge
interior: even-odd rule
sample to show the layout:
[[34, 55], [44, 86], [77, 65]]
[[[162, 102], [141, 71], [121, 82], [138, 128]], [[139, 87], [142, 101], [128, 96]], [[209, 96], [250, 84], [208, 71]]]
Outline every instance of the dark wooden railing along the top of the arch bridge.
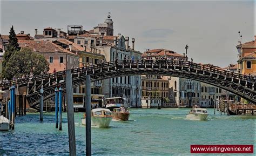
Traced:
[[[244, 74], [235, 73], [231, 71], [227, 71], [224, 69], [220, 69], [219, 67], [215, 67], [212, 65], [204, 65], [204, 64], [198, 64], [193, 63], [186, 60], [152, 60], [152, 59], [143, 59], [143, 60], [116, 60], [112, 62], [105, 62], [105, 63], [99, 63], [99, 64], [93, 64], [90, 66], [85, 67], [79, 67], [76, 69], [71, 69], [72, 74], [80, 74], [85, 72], [92, 72], [93, 70], [99, 70], [100, 68], [106, 69], [108, 67], [117, 67], [117, 66], [127, 66], [127, 65], [158, 65], [158, 66], [183, 66], [194, 70], [203, 70], [207, 72], [212, 72], [214, 74], [220, 74], [221, 76], [226, 77], [232, 77], [237, 78], [240, 80], [244, 80], [247, 82], [255, 82], [256, 78], [252, 76], [246, 76]], [[117, 68], [116, 68], [117, 69]], [[28, 83], [32, 83], [35, 81], [43, 81], [47, 79], [56, 79], [56, 77], [64, 77], [65, 71], [59, 71], [55, 73], [46, 73], [46, 74], [40, 74], [38, 76], [33, 77], [25, 77], [25, 78], [18, 78], [15, 80], [6, 80], [5, 82], [0, 83], [0, 87], [8, 87], [11, 85], [26, 85]]]

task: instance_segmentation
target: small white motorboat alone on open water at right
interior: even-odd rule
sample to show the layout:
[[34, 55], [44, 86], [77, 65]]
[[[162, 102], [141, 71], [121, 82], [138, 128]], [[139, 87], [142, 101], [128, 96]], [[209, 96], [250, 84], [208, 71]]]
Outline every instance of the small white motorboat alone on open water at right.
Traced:
[[192, 108], [187, 114], [186, 119], [188, 120], [206, 120], [208, 116], [205, 108]]

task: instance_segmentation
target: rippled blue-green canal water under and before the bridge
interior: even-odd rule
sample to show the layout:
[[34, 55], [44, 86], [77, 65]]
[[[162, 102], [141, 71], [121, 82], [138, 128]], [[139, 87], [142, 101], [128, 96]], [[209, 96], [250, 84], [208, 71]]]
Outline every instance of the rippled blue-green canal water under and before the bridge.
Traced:
[[[219, 112], [214, 116], [214, 110], [208, 108], [207, 121], [192, 121], [186, 120], [188, 111], [188, 108], [131, 109], [130, 121], [111, 121], [110, 128], [92, 128], [92, 153], [191, 155], [190, 145], [194, 144], [247, 144], [254, 145], [255, 151], [255, 116], [221, 116]], [[81, 124], [82, 117], [83, 113], [75, 113], [78, 155], [85, 154], [85, 126]], [[14, 131], [0, 132], [2, 154], [68, 155], [66, 113], [63, 113], [63, 131], [55, 128], [55, 113], [44, 113], [42, 123], [39, 121], [39, 113], [17, 116]]]

